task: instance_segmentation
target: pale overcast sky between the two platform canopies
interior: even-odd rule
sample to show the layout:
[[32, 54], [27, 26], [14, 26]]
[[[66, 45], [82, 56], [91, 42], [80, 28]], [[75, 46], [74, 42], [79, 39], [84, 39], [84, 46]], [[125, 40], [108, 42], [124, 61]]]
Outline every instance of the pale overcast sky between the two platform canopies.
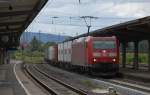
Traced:
[[87, 32], [82, 16], [98, 17], [91, 19], [93, 31], [149, 15], [150, 0], [49, 0], [26, 30], [76, 36]]

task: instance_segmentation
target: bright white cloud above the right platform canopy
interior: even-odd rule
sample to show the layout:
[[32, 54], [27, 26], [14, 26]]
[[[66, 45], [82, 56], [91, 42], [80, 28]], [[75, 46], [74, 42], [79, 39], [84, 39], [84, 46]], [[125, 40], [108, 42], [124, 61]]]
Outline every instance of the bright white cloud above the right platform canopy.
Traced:
[[124, 3], [112, 7], [108, 12], [118, 17], [144, 17], [150, 14], [149, 3]]

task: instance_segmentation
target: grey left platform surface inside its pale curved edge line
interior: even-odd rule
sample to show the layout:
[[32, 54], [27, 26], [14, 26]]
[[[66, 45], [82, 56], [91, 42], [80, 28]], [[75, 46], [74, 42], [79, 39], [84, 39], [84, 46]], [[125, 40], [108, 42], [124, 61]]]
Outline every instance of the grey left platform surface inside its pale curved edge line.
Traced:
[[14, 64], [0, 65], [0, 95], [26, 95], [14, 74]]

